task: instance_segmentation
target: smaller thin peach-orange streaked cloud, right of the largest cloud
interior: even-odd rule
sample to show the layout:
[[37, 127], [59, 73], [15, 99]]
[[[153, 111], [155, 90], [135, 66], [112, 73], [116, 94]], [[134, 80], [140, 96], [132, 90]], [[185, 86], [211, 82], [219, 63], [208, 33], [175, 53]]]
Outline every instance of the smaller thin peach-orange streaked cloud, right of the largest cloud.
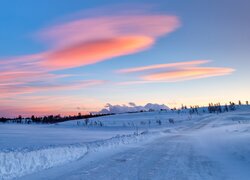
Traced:
[[[118, 70], [118, 73], [141, 72], [139, 80], [120, 82], [121, 85], [155, 83], [155, 82], [177, 82], [192, 79], [208, 78], [213, 76], [229, 75], [235, 70], [226, 67], [199, 67], [208, 63], [208, 60], [196, 60], [169, 64], [156, 64], [129, 69]], [[154, 70], [154, 71], [149, 71]]]

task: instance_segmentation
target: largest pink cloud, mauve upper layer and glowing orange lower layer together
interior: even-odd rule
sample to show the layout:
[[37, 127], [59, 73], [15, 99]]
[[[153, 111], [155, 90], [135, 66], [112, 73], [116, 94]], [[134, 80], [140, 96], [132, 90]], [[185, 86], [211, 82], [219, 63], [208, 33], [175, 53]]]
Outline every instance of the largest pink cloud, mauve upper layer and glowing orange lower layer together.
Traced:
[[52, 47], [40, 54], [40, 65], [66, 69], [140, 52], [179, 25], [177, 17], [168, 15], [83, 18], [55, 25], [39, 33]]

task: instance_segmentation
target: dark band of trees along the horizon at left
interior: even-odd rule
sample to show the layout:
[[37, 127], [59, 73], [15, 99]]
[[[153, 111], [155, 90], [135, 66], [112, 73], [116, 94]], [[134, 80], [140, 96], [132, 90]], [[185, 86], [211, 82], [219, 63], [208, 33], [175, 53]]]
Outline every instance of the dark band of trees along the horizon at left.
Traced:
[[70, 120], [77, 120], [77, 119], [89, 119], [94, 117], [100, 117], [100, 116], [108, 116], [113, 114], [87, 114], [82, 115], [81, 113], [78, 113], [78, 115], [74, 116], [64, 116], [61, 117], [61, 115], [50, 115], [50, 116], [42, 116], [42, 117], [36, 117], [31, 116], [28, 118], [23, 118], [22, 116], [18, 116], [17, 118], [0, 118], [0, 122], [2, 123], [22, 123], [22, 124], [31, 124], [31, 123], [43, 123], [43, 124], [54, 124], [64, 121], [70, 121]]

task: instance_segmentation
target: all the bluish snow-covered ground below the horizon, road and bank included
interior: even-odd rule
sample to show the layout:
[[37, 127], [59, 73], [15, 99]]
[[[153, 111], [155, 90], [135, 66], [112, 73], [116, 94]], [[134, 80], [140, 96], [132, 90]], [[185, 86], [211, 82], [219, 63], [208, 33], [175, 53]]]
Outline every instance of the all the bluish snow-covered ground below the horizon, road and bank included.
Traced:
[[250, 179], [250, 107], [0, 124], [0, 179], [13, 178]]

